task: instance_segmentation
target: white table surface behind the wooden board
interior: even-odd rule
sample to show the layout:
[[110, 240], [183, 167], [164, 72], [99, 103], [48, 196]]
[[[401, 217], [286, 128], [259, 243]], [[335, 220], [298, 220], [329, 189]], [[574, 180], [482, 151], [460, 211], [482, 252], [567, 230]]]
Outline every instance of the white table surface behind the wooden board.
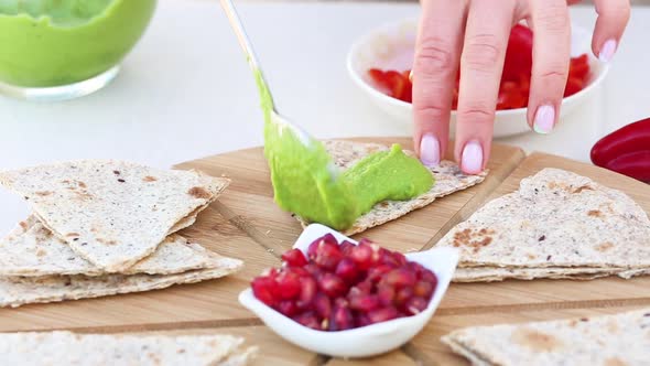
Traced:
[[[416, 4], [239, 2], [275, 100], [319, 138], [404, 136], [349, 80], [350, 43], [378, 24], [418, 14]], [[592, 26], [595, 13], [572, 11]], [[527, 151], [588, 160], [594, 141], [650, 116], [650, 8], [636, 8], [597, 98], [550, 136], [507, 138]], [[258, 96], [218, 2], [161, 0], [118, 78], [73, 101], [32, 104], [0, 97], [0, 169], [55, 160], [113, 158], [167, 168], [262, 143]], [[0, 233], [28, 214], [0, 192]]]

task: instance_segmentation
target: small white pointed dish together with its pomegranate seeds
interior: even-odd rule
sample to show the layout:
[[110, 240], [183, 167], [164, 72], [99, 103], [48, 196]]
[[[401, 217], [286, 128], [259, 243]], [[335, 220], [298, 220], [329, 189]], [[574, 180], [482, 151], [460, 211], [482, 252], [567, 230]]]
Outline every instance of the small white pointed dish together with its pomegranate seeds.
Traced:
[[458, 252], [438, 248], [404, 256], [313, 224], [282, 258], [282, 268], [253, 279], [239, 302], [303, 348], [368, 357], [402, 346], [426, 325]]

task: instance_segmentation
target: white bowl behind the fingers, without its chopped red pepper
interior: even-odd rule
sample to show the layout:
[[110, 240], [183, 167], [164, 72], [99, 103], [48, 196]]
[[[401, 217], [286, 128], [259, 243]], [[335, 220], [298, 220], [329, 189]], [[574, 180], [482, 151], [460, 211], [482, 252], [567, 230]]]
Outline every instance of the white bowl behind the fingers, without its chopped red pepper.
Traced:
[[[368, 76], [369, 68], [410, 69], [413, 64], [418, 22], [415, 19], [400, 20], [371, 30], [358, 40], [347, 57], [347, 69], [353, 82], [387, 115], [404, 126], [404, 131], [412, 132], [412, 106], [392, 98], [376, 89]], [[564, 98], [560, 118], [571, 114], [577, 106], [594, 98], [594, 90], [607, 75], [608, 67], [592, 54], [591, 33], [577, 25], [572, 25], [572, 55], [586, 53], [589, 57], [592, 75], [588, 85], [581, 92]], [[513, 136], [530, 132], [526, 120], [527, 109], [498, 110], [495, 118], [495, 137]], [[451, 133], [454, 133], [456, 112], [452, 111]]]

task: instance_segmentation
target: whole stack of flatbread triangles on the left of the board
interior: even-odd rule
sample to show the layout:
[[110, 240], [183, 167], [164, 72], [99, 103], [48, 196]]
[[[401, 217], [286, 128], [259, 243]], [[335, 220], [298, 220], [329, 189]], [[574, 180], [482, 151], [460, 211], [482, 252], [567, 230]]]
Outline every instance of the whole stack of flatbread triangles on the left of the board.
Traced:
[[33, 214], [0, 240], [0, 306], [149, 291], [242, 267], [174, 233], [229, 180], [85, 160], [0, 173]]

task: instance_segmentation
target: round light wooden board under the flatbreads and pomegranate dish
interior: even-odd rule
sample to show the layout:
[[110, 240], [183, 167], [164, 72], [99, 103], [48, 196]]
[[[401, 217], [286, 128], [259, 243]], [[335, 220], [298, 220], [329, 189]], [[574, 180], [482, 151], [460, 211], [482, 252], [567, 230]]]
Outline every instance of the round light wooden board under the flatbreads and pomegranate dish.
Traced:
[[[407, 138], [362, 138], [399, 142]], [[357, 235], [400, 251], [430, 248], [487, 200], [512, 192], [519, 181], [543, 168], [561, 168], [619, 189], [650, 212], [650, 187], [588, 164], [496, 144], [486, 181], [440, 198], [398, 220]], [[221, 255], [240, 258], [245, 269], [226, 279], [165, 290], [53, 304], [0, 309], [0, 332], [69, 329], [78, 332], [183, 332], [243, 335], [261, 347], [259, 365], [465, 365], [438, 342], [463, 326], [551, 320], [650, 308], [650, 277], [593, 281], [535, 280], [454, 283], [431, 323], [408, 345], [365, 360], [331, 359], [300, 349], [273, 334], [237, 302], [238, 293], [264, 268], [280, 265], [301, 226], [273, 203], [267, 162], [260, 148], [204, 158], [176, 168], [228, 176], [231, 185], [197, 223], [182, 234]]]

